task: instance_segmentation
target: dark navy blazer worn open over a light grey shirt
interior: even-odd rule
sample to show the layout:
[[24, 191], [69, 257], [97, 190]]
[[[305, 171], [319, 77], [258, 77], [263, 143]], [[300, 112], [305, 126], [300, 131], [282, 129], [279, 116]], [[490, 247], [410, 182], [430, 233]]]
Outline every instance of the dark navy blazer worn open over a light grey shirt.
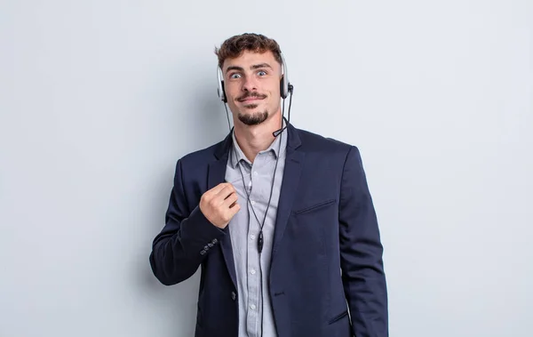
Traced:
[[[388, 309], [378, 221], [358, 148], [289, 124], [269, 293], [279, 337], [386, 337]], [[229, 230], [200, 212], [224, 182], [230, 135], [178, 160], [166, 224], [150, 264], [163, 285], [201, 267], [196, 337], [237, 337]], [[270, 337], [270, 336], [264, 336]]]

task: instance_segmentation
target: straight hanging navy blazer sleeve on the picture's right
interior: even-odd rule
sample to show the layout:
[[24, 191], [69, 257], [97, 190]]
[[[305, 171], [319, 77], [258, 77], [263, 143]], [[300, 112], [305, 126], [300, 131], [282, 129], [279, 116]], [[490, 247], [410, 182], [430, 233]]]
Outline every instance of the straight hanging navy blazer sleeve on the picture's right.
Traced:
[[358, 148], [346, 155], [339, 199], [343, 285], [354, 335], [387, 337], [388, 309], [378, 220]]

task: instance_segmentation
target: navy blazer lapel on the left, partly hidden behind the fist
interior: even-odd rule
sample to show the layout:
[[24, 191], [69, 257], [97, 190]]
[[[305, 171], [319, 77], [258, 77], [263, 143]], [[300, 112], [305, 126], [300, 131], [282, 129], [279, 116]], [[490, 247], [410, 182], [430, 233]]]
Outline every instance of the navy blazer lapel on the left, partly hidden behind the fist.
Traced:
[[[233, 131], [233, 130], [232, 130]], [[227, 155], [229, 152], [229, 147], [231, 146], [231, 132], [226, 137], [226, 140], [222, 141], [215, 152], [217, 160], [209, 164], [208, 177], [207, 177], [207, 189], [212, 189], [215, 186], [219, 185], [222, 182], [226, 181], [226, 165], [227, 165]], [[224, 229], [226, 235], [220, 240], [220, 249], [222, 250], [222, 255], [224, 256], [224, 261], [226, 261], [227, 271], [231, 277], [231, 280], [234, 283], [235, 289], [237, 287], [236, 275], [235, 275], [235, 261], [231, 245], [231, 237], [229, 235], [229, 230]]]

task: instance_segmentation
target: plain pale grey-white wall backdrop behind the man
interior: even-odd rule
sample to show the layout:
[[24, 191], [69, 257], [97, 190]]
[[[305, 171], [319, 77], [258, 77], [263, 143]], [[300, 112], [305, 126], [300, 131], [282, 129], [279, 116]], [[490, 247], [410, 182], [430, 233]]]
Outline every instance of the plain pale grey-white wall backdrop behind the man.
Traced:
[[529, 337], [533, 2], [0, 2], [0, 336], [192, 336], [148, 263], [227, 134], [215, 46], [282, 46], [290, 121], [360, 148], [394, 337]]

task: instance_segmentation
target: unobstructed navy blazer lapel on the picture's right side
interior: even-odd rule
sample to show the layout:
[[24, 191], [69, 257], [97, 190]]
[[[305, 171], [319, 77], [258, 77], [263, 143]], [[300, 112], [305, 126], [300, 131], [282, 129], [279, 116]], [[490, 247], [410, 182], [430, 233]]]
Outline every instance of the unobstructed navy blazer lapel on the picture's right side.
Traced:
[[289, 220], [292, 203], [298, 189], [300, 173], [305, 157], [305, 152], [298, 150], [301, 141], [298, 137], [297, 130], [291, 124], [289, 124], [287, 130], [289, 138], [287, 140], [287, 156], [285, 159], [285, 170], [283, 172], [282, 189], [280, 191], [278, 212], [274, 226], [273, 259], [282, 241], [283, 233], [287, 228], [287, 221]]

